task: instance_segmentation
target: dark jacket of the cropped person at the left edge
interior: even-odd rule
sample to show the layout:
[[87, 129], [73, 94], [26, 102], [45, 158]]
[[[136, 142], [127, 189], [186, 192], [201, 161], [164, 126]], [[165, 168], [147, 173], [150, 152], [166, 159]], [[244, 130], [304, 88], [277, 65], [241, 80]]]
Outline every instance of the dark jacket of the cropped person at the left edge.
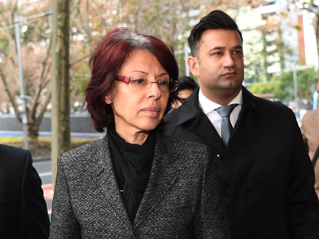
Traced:
[[30, 152], [0, 144], [0, 239], [46, 239], [49, 225]]

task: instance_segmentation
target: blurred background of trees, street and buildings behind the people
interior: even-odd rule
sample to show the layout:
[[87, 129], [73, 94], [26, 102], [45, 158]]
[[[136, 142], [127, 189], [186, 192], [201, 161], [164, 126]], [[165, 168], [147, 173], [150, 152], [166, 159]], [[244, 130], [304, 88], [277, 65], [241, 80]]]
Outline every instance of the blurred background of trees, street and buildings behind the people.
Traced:
[[[83, 112], [82, 101], [90, 54], [115, 27], [164, 40], [175, 51], [180, 75], [191, 76], [185, 61], [190, 29], [210, 11], [224, 10], [242, 31], [244, 85], [255, 95], [288, 105], [298, 121], [317, 108], [319, 0], [59, 2], [66, 3], [61, 7], [57, 0], [0, 0], [0, 143], [31, 150], [49, 211], [55, 175], [51, 158], [55, 165], [56, 155], [103, 137]], [[65, 46], [62, 57], [54, 56]], [[56, 87], [61, 81], [66, 91]], [[60, 108], [54, 110], [56, 102]], [[66, 120], [52, 124], [54, 116]], [[54, 127], [64, 130], [64, 136], [56, 133], [57, 144], [66, 142], [56, 150]]]

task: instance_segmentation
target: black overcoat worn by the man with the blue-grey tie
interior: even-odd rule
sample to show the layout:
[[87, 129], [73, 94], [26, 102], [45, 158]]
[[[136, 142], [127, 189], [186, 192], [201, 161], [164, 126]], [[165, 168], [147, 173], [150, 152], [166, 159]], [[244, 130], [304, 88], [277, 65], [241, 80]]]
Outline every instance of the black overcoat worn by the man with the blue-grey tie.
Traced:
[[314, 170], [292, 111], [243, 87], [226, 148], [199, 107], [198, 91], [165, 117], [166, 133], [214, 150], [234, 238], [319, 239]]

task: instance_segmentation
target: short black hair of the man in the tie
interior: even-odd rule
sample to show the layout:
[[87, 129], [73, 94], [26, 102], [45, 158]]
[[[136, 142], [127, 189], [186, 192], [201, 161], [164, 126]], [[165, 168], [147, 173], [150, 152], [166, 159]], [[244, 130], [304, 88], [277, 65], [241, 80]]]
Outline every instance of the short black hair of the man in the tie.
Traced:
[[188, 46], [192, 56], [196, 56], [198, 54], [201, 36], [203, 32], [208, 29], [236, 30], [242, 43], [242, 35], [235, 21], [225, 12], [221, 10], [214, 10], [203, 17], [190, 31]]

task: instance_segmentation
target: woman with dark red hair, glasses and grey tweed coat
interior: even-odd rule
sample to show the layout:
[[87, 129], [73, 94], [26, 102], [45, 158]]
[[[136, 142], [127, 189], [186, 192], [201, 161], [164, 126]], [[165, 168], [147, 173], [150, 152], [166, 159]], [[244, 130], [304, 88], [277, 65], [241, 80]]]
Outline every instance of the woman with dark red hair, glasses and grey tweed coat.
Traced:
[[229, 239], [210, 151], [162, 134], [177, 98], [171, 48], [116, 28], [90, 67], [87, 110], [107, 132], [58, 159], [50, 238]]

